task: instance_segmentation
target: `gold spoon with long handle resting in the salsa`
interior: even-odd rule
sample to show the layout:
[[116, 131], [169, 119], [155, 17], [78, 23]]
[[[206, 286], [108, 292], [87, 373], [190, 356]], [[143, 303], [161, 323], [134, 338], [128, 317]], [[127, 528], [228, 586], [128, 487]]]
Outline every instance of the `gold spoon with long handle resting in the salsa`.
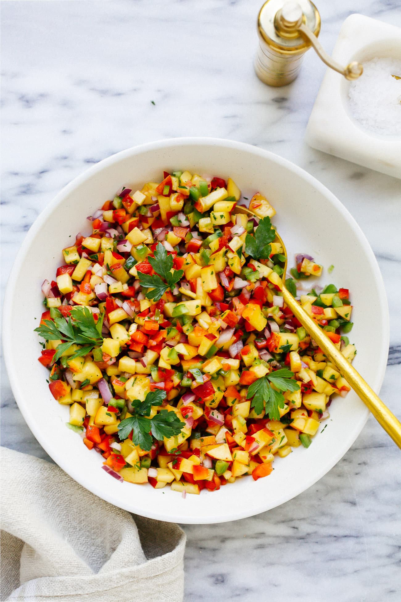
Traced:
[[[236, 213], [245, 213], [251, 217], [257, 217], [253, 211], [246, 209], [243, 206], [236, 206]], [[360, 373], [355, 370], [354, 367], [344, 358], [343, 354], [334, 346], [328, 336], [325, 334], [324, 330], [317, 325], [317, 323], [302, 309], [301, 305], [299, 305], [298, 301], [294, 299], [292, 294], [287, 290], [285, 284], [285, 274], [287, 272], [287, 250], [286, 246], [283, 243], [281, 237], [277, 234], [276, 230], [276, 238], [277, 241], [283, 247], [283, 255], [286, 256], [286, 264], [284, 265], [283, 272], [283, 297], [286, 305], [291, 309], [292, 313], [296, 318], [301, 322], [302, 326], [304, 326], [305, 330], [307, 330], [308, 334], [313, 338], [315, 343], [317, 343], [322, 349], [323, 353], [332, 361], [332, 363], [337, 367], [341, 376], [346, 379], [347, 383], [354, 389], [355, 393], [357, 393], [358, 397], [364, 402], [367, 408], [372, 412], [373, 416], [376, 418], [378, 423], [384, 428], [385, 432], [390, 435], [391, 439], [393, 439], [394, 443], [401, 448], [401, 423], [394, 416], [393, 412], [387, 408], [387, 406], [382, 402], [382, 400], [376, 395], [375, 391], [368, 385], [366, 380], [360, 375]]]

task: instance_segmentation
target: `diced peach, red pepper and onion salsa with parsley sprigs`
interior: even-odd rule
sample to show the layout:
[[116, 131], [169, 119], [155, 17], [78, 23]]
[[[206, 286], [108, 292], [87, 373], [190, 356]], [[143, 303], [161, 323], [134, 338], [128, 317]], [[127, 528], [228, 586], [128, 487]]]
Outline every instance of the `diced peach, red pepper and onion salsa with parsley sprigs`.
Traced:
[[[49, 388], [121, 482], [185, 497], [266, 477], [350, 389], [284, 303], [275, 209], [256, 193], [249, 218], [241, 198], [188, 171], [122, 187], [43, 282]], [[302, 286], [322, 269], [297, 255], [286, 286], [352, 361], [349, 291]]]

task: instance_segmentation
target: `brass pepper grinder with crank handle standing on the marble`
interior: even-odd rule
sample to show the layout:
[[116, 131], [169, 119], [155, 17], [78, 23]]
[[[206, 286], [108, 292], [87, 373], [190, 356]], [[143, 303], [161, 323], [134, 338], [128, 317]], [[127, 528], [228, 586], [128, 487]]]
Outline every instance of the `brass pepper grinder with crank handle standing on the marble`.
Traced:
[[265, 84], [281, 86], [292, 82], [301, 69], [305, 52], [311, 46], [323, 63], [346, 79], [358, 79], [362, 75], [360, 63], [352, 61], [342, 67], [322, 48], [317, 40], [320, 14], [310, 0], [268, 0], [260, 9], [257, 27], [259, 46], [255, 70]]

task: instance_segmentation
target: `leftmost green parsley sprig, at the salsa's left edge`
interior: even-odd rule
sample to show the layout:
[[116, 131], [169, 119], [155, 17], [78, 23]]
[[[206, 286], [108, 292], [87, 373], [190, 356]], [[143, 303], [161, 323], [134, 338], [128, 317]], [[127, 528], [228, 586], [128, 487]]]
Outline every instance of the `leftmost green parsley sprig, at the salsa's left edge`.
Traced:
[[104, 314], [99, 314], [97, 322], [94, 321], [93, 313], [87, 307], [76, 306], [72, 309], [68, 320], [63, 317], [58, 309], [51, 309], [52, 320], [44, 320], [41, 326], [35, 328], [35, 332], [46, 341], [64, 340], [56, 347], [54, 361], [63, 355], [73, 344], [82, 345], [69, 359], [87, 355], [93, 347], [102, 345], [102, 324]]

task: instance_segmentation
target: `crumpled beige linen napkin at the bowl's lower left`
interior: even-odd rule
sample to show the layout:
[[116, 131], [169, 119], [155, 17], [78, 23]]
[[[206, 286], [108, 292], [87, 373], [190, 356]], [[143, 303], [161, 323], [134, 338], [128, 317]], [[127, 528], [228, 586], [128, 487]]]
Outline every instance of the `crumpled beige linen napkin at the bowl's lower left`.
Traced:
[[[185, 533], [1, 448], [1, 600], [180, 602]], [[133, 492], [133, 495], [135, 492]]]

